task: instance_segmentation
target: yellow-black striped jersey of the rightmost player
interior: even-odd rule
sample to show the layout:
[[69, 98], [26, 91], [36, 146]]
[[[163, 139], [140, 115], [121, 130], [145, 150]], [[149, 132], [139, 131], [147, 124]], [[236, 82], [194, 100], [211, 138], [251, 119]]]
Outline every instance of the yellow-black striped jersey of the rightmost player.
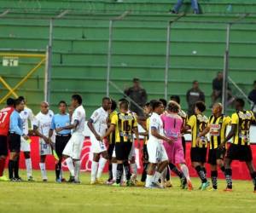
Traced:
[[250, 127], [255, 117], [252, 111], [239, 111], [232, 114], [232, 125], [236, 124], [236, 133], [233, 137], [233, 144], [249, 145], [250, 144]]

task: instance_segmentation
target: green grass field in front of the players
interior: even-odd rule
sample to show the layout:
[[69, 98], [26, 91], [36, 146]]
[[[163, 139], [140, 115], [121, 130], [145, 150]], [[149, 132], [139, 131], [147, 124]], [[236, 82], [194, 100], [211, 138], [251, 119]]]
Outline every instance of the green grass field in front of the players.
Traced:
[[[20, 171], [25, 177], [25, 171]], [[0, 182], [0, 212], [256, 212], [256, 193], [251, 181], [234, 181], [234, 192], [224, 193], [224, 181], [217, 192], [181, 190], [179, 180], [174, 187], [146, 189], [143, 187], [90, 186], [88, 173], [82, 184], [55, 183], [54, 172], [49, 182]], [[195, 188], [200, 182], [193, 179]]]

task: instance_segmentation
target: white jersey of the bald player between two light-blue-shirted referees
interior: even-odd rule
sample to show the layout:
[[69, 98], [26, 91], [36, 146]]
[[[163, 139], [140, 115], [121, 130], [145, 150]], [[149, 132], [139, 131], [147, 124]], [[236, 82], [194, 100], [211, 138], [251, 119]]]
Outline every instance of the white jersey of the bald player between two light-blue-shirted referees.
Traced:
[[36, 118], [34, 119], [34, 125], [38, 127], [38, 131], [48, 137], [49, 129], [51, 127], [52, 118], [54, 116], [54, 112], [49, 110], [47, 114], [43, 114], [42, 112], [38, 112]]

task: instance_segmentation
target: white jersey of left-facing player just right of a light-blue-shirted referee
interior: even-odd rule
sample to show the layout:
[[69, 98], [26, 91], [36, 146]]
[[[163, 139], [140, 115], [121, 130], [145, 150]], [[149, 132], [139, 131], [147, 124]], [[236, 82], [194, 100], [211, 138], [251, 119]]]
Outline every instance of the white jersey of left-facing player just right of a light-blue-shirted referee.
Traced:
[[82, 105], [80, 105], [79, 107], [77, 107], [74, 110], [72, 119], [71, 119], [71, 124], [74, 124], [75, 120], [79, 121], [79, 124], [76, 127], [76, 129], [73, 130], [73, 133], [74, 132], [83, 133], [84, 132], [84, 124], [85, 124], [85, 110]]

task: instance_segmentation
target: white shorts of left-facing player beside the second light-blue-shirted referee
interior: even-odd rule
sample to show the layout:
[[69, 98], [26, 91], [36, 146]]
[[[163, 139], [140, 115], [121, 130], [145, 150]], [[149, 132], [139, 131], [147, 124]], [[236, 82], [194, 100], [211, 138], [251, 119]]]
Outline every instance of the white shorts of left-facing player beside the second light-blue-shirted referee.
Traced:
[[70, 140], [67, 142], [62, 154], [73, 159], [80, 159], [84, 145], [84, 135], [79, 132], [74, 132]]

